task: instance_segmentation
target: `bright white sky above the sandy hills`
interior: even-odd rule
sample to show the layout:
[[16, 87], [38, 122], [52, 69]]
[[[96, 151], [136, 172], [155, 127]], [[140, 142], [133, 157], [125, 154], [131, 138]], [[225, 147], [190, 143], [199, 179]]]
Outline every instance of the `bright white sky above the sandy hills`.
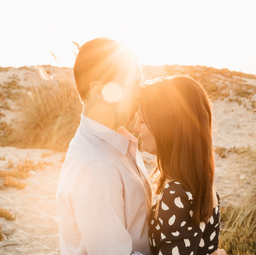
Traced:
[[0, 66], [73, 66], [72, 41], [106, 36], [141, 64], [256, 74], [255, 9], [255, 0], [0, 0]]

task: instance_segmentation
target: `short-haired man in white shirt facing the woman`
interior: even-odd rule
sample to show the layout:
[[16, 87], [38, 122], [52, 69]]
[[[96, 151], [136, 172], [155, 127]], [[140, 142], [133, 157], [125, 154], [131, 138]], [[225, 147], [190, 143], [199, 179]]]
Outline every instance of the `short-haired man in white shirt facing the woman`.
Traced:
[[84, 107], [58, 183], [61, 252], [150, 254], [149, 177], [137, 139], [119, 129], [137, 109], [137, 58], [114, 40], [93, 39], [73, 72]]

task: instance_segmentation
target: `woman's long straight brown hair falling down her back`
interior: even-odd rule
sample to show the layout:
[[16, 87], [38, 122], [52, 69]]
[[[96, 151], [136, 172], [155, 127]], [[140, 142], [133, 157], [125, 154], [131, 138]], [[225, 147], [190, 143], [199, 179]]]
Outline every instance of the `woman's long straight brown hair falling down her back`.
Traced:
[[142, 89], [141, 112], [157, 145], [155, 193], [166, 179], [180, 182], [193, 195], [192, 222], [206, 222], [213, 213], [214, 163], [205, 90], [190, 77], [160, 78]]

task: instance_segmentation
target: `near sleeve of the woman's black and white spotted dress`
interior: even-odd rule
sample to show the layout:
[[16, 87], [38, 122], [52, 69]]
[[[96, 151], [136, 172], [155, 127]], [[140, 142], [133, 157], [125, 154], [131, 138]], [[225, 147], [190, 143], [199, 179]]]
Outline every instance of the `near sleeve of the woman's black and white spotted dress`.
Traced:
[[201, 241], [200, 227], [191, 225], [192, 194], [179, 182], [169, 182], [160, 197], [157, 219], [160, 222], [159, 254], [196, 254]]

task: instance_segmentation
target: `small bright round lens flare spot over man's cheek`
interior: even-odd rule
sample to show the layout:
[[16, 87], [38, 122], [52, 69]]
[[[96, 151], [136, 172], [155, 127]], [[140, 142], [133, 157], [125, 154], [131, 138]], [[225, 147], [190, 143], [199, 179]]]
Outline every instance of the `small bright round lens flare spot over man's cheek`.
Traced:
[[117, 103], [122, 99], [122, 87], [117, 82], [108, 82], [101, 90], [107, 103]]

